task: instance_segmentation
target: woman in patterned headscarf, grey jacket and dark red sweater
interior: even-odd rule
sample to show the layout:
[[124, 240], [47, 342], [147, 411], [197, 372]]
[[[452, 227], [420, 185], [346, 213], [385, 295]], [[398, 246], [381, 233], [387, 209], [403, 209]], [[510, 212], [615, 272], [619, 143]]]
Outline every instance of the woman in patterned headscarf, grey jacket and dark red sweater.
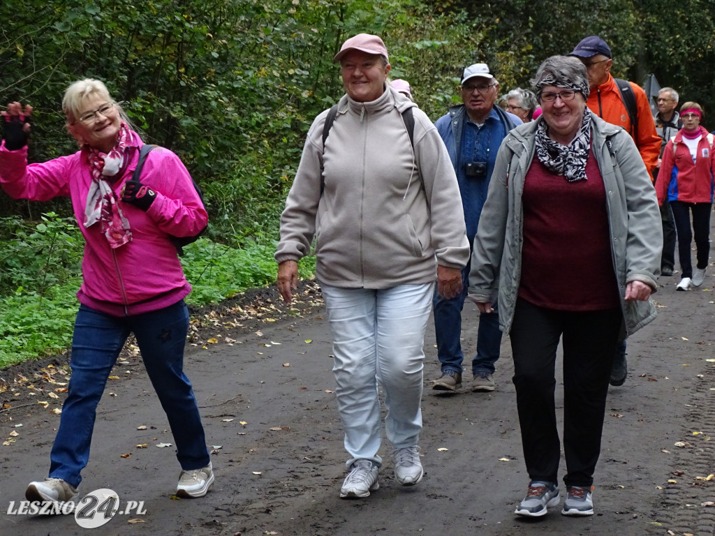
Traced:
[[586, 107], [576, 58], [552, 56], [532, 84], [543, 114], [504, 139], [474, 242], [469, 297], [498, 292], [509, 333], [524, 460], [517, 515], [559, 502], [556, 347], [563, 337], [563, 515], [593, 515], [608, 378], [618, 340], [655, 317], [661, 225], [628, 133]]

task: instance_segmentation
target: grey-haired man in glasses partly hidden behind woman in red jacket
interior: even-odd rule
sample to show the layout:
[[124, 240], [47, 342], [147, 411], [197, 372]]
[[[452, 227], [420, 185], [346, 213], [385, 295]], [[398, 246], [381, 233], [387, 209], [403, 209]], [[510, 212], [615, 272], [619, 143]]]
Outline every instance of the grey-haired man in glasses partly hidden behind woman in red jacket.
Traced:
[[[683, 121], [676, 110], [678, 107], [678, 91], [671, 87], [664, 87], [658, 92], [658, 113], [656, 114], [656, 133], [661, 137], [661, 153], [658, 158], [653, 178], [658, 180], [658, 172], [661, 168], [661, 158], [666, 148], [668, 140], [678, 134], [683, 128]], [[664, 179], [667, 180], [667, 179]], [[675, 269], [675, 221], [673, 219], [673, 209], [670, 203], [661, 206], [661, 223], [663, 224], [663, 254], [661, 254], [661, 275], [671, 276]]]

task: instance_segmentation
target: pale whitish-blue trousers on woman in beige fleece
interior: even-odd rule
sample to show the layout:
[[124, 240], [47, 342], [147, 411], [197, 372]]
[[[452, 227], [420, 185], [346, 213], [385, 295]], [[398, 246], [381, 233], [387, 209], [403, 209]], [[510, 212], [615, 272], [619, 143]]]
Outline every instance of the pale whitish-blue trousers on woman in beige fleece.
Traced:
[[417, 445], [422, 430], [423, 344], [434, 284], [343, 289], [321, 284], [332, 332], [337, 410], [348, 469], [382, 464], [378, 382], [385, 391], [385, 432], [394, 448]]

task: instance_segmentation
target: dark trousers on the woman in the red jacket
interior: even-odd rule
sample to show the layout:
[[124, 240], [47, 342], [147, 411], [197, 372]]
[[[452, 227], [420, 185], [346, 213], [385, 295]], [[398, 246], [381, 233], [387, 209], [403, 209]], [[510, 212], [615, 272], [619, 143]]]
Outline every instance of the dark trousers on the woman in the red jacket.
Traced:
[[[686, 203], [671, 201], [675, 227], [678, 229], [678, 256], [683, 277], [693, 277], [693, 262], [690, 257], [690, 244], [695, 234], [695, 247], [697, 249], [697, 267], [700, 269], [708, 266], [710, 254], [710, 203]], [[690, 229], [690, 213], [693, 213], [693, 229]]]

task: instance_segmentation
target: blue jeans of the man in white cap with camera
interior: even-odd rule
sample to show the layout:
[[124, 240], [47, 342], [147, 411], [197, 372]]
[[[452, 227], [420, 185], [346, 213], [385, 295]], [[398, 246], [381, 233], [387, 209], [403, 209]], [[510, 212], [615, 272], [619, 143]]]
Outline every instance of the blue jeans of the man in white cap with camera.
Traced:
[[[437, 357], [440, 360], [442, 372], [453, 370], [462, 374], [462, 309], [467, 297], [470, 262], [462, 269], [462, 292], [452, 299], [441, 297], [435, 290], [433, 298], [435, 316], [435, 336], [437, 339]], [[494, 312], [479, 315], [477, 329], [477, 354], [472, 359], [472, 372], [479, 374], [494, 374], [494, 364], [499, 359], [501, 349], [501, 330], [499, 329], [499, 313], [496, 304], [492, 304]]]

